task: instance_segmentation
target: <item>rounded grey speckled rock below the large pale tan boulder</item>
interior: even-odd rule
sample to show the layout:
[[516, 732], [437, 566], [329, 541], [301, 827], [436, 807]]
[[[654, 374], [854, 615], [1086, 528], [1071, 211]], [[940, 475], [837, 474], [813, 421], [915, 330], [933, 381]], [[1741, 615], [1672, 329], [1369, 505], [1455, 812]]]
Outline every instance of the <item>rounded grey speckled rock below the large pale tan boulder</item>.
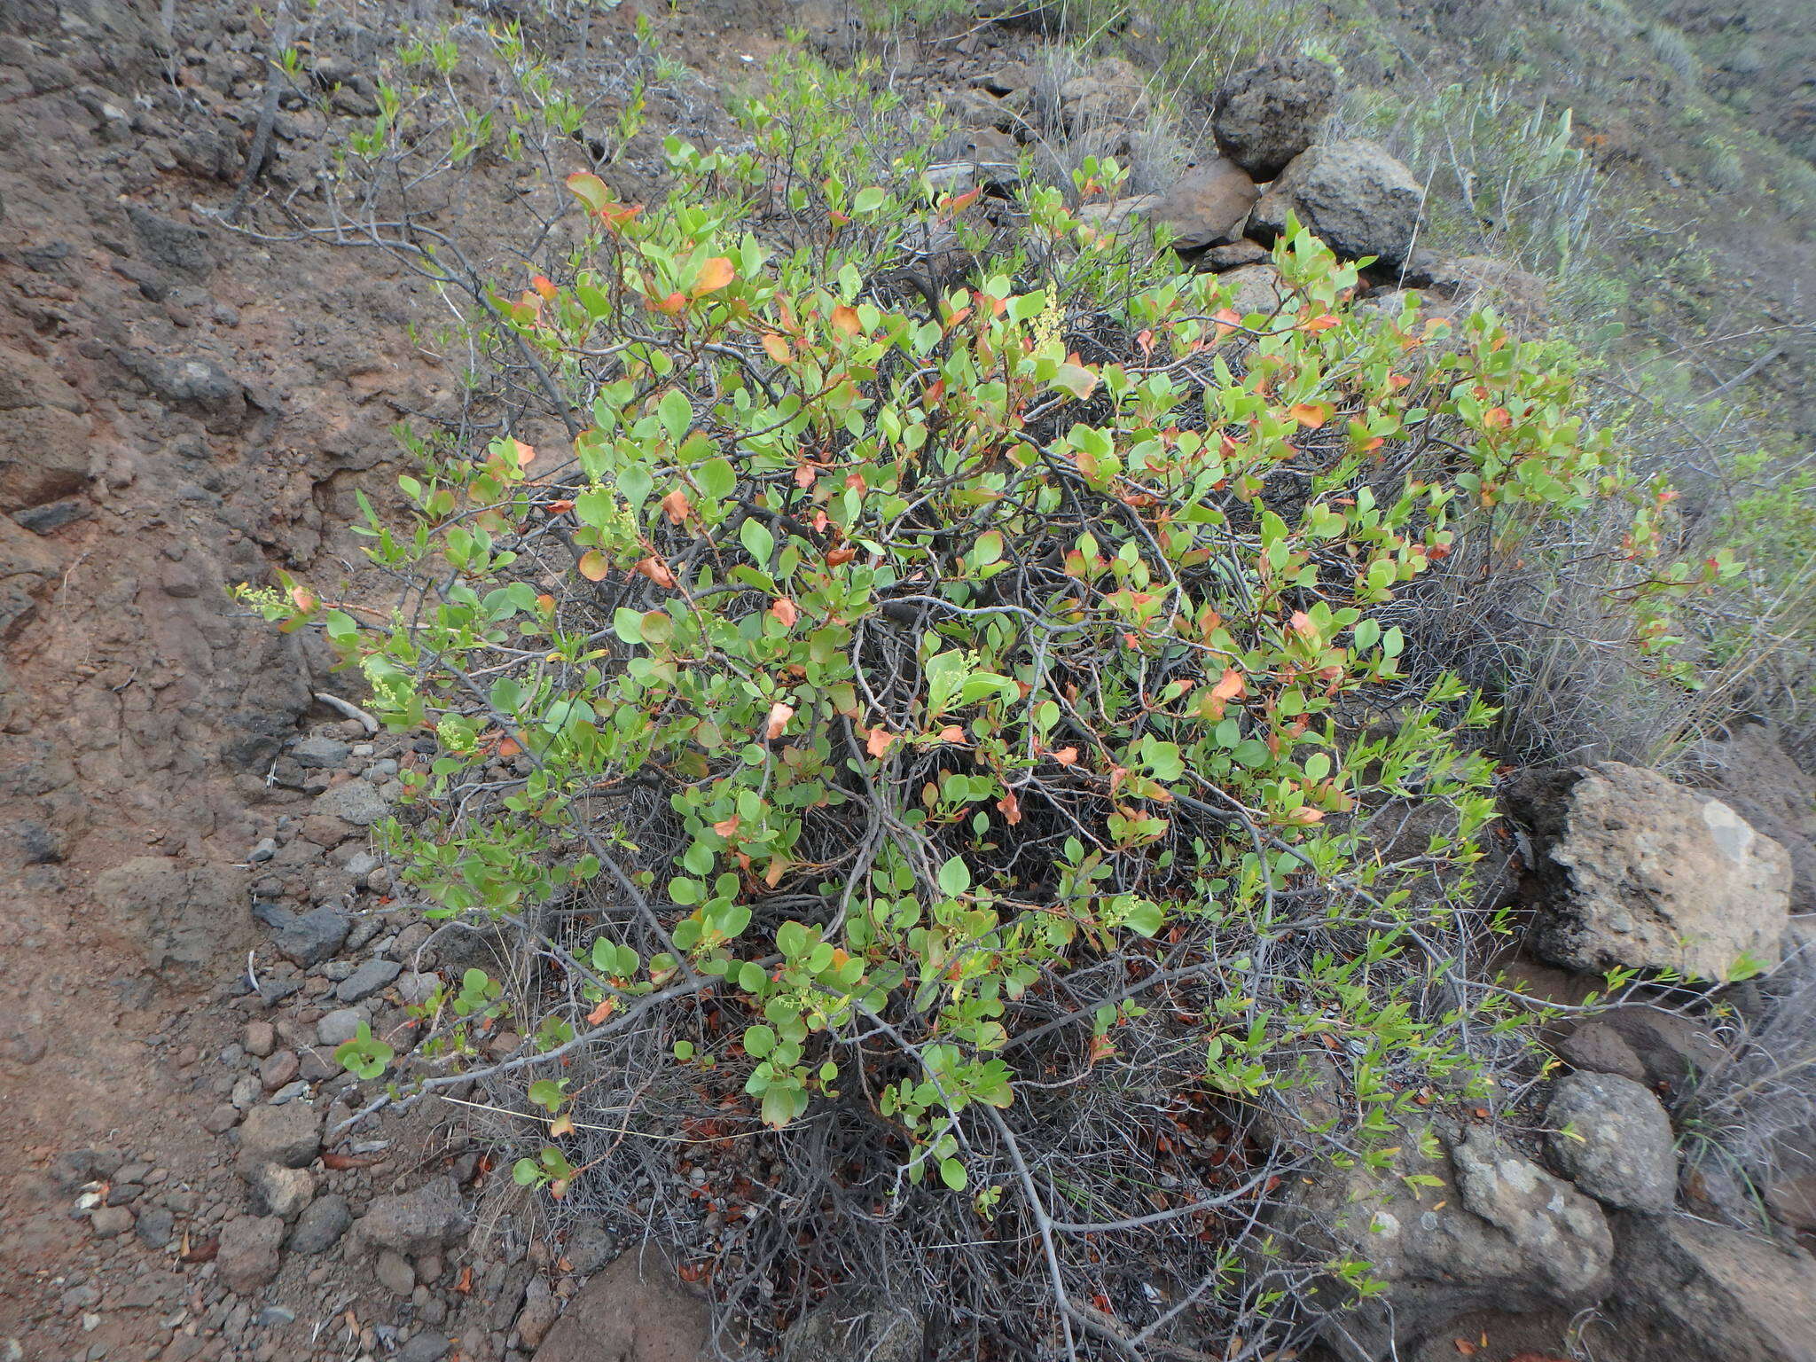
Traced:
[[1567, 1073], [1545, 1108], [1551, 1157], [1607, 1206], [1669, 1211], [1676, 1200], [1678, 1157], [1671, 1117], [1649, 1088], [1613, 1073]]

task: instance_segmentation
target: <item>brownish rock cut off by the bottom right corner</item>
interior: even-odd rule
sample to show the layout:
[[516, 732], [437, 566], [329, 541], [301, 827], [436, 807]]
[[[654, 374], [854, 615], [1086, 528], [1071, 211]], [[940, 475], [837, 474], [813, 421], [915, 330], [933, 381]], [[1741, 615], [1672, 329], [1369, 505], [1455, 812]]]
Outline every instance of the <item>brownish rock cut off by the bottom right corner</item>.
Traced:
[[1607, 1306], [1634, 1362], [1816, 1362], [1816, 1258], [1687, 1217], [1624, 1215]]

